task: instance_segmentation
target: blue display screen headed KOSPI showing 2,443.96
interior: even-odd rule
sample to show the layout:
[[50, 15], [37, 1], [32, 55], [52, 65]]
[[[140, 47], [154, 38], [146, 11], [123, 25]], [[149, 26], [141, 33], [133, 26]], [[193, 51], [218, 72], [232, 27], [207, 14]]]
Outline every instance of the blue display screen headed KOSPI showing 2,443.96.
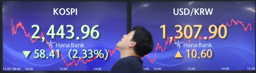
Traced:
[[127, 2], [3, 1], [3, 71], [110, 71]]

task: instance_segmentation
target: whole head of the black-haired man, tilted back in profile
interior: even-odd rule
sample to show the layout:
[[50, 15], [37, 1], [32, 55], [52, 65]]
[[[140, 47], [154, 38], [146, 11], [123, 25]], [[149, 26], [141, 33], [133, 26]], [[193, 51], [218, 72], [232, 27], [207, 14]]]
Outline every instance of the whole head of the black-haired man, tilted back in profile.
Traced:
[[133, 50], [137, 55], [143, 57], [153, 50], [154, 41], [146, 28], [134, 26], [133, 30], [125, 34], [116, 46], [118, 49]]

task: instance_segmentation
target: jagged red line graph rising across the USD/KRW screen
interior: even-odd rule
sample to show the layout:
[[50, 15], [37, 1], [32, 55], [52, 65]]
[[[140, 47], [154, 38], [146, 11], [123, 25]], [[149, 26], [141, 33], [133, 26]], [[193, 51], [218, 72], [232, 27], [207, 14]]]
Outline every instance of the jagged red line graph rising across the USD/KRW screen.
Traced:
[[[235, 25], [237, 25], [238, 23], [240, 23], [240, 24], [242, 24], [242, 26], [244, 26], [244, 24], [243, 24], [242, 22], [240, 22], [240, 21], [237, 21], [237, 22], [236, 22], [236, 21], [233, 20], [233, 19], [231, 19], [230, 25], [229, 25], [228, 22], [227, 22], [226, 26], [231, 26], [231, 25], [232, 25], [232, 22], [234, 22]], [[222, 23], [222, 25], [223, 25], [223, 23]], [[249, 26], [250, 26], [250, 30], [252, 30], [251, 24], [249, 23], [246, 28], [245, 28], [245, 26], [244, 26], [245, 32], [246, 32], [246, 30], [247, 30], [247, 28], [248, 28]], [[182, 34], [184, 34], [184, 33], [182, 33]], [[178, 36], [179, 36], [179, 33], [177, 34], [176, 37], [178, 37]], [[194, 35], [194, 36], [195, 36], [195, 35]], [[211, 37], [211, 36], [209, 36], [209, 37]], [[208, 40], [210, 40], [209, 37], [207, 37]], [[174, 39], [174, 36], [172, 36], [172, 37], [170, 37], [170, 38], [172, 38], [174, 42], [176, 42], [176, 40], [177, 40], [177, 39]], [[168, 42], [169, 42], [169, 44], [172, 43], [172, 42], [170, 41], [170, 38], [167, 37], [167, 41], [165, 41], [165, 47], [164, 47], [164, 49], [162, 49], [162, 46], [160, 46], [159, 43], [157, 43], [157, 45], [156, 45], [156, 50], [155, 50], [155, 58], [153, 58], [153, 59], [151, 60], [148, 54], [145, 55], [145, 57], [148, 56], [149, 61], [150, 61], [151, 63], [154, 63], [154, 61], [156, 60], [156, 51], [157, 51], [158, 49], [161, 49], [161, 52], [165, 51], [166, 45], [168, 44]], [[200, 42], [201, 39], [203, 39], [203, 37], [201, 37], [201, 36], [199, 36], [198, 38], [199, 38], [199, 42]], [[184, 36], [184, 39], [186, 39], [185, 36]], [[192, 39], [192, 38], [188, 39], [188, 43], [190, 43], [190, 40], [191, 40], [191, 39]], [[213, 39], [213, 38], [212, 38], [212, 39]], [[143, 59], [143, 57], [142, 57], [141, 59]]]

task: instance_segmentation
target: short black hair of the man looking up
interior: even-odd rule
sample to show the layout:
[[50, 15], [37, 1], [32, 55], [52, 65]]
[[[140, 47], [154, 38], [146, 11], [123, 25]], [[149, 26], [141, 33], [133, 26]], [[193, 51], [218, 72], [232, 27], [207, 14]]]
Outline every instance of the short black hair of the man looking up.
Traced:
[[132, 37], [132, 41], [136, 42], [134, 51], [137, 55], [143, 57], [153, 50], [154, 41], [152, 35], [142, 26], [134, 26], [132, 31], [134, 30], [134, 36]]

